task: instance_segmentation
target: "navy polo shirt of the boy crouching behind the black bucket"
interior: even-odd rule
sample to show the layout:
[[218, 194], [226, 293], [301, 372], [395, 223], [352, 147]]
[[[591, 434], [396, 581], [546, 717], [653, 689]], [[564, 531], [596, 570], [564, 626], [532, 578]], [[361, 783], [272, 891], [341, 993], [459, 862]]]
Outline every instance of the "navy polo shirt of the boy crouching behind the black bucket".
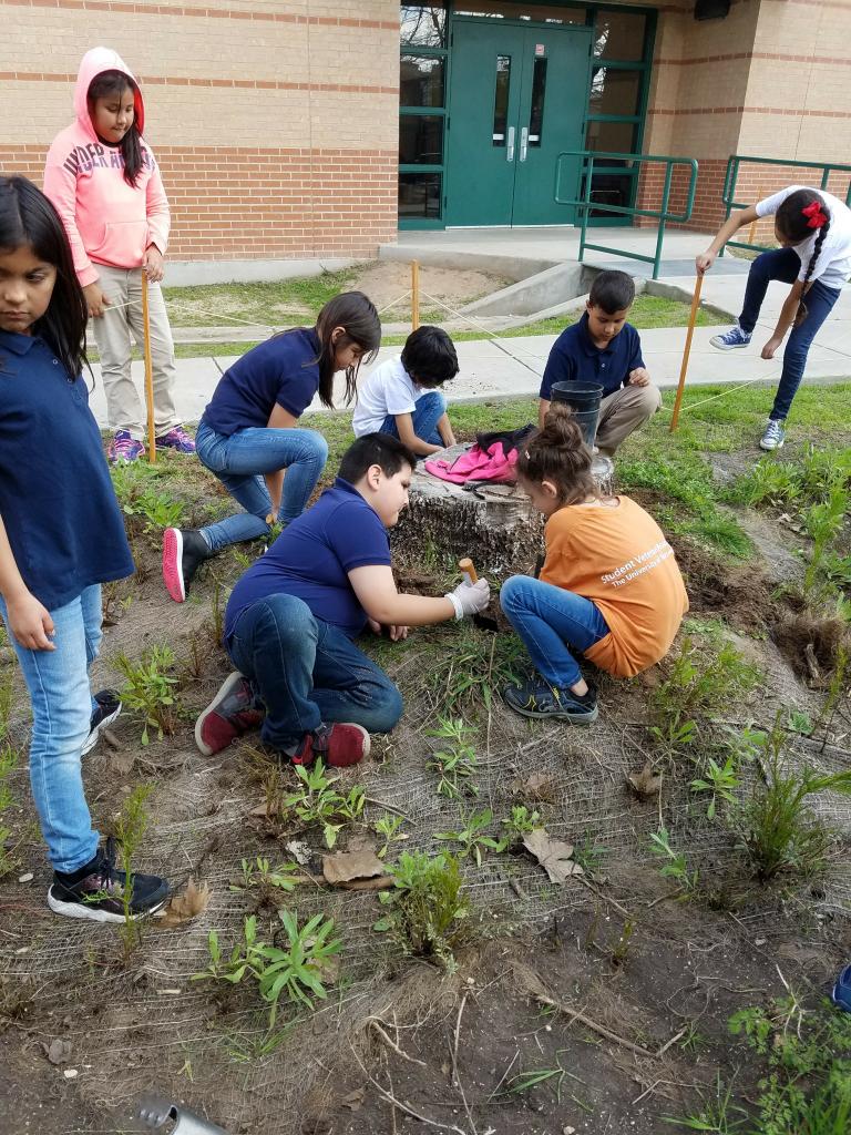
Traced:
[[549, 352], [539, 397], [550, 401], [554, 382], [597, 382], [604, 398], [626, 386], [630, 372], [643, 367], [641, 339], [624, 323], [608, 346], [598, 347], [588, 331], [588, 312], [558, 336]]

